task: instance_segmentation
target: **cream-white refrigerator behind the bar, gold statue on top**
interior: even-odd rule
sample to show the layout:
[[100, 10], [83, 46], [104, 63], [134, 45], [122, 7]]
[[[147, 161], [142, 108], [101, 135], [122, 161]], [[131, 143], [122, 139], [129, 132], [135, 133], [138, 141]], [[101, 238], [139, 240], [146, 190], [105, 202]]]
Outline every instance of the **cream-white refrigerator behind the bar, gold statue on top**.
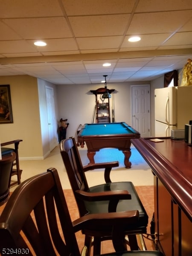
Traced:
[[155, 89], [155, 137], [170, 137], [192, 120], [192, 86]]

